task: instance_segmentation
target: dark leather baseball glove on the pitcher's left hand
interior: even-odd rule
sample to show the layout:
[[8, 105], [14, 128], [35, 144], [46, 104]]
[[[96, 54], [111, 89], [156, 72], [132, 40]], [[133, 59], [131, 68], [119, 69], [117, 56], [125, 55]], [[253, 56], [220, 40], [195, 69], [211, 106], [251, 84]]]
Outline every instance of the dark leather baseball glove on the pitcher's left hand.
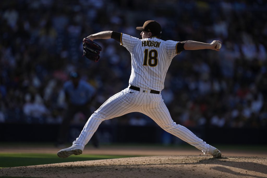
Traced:
[[84, 56], [87, 57], [87, 59], [90, 59], [95, 63], [99, 61], [100, 59], [99, 54], [100, 51], [102, 50], [102, 47], [100, 45], [89, 40], [89, 38], [84, 38], [83, 49], [84, 49]]

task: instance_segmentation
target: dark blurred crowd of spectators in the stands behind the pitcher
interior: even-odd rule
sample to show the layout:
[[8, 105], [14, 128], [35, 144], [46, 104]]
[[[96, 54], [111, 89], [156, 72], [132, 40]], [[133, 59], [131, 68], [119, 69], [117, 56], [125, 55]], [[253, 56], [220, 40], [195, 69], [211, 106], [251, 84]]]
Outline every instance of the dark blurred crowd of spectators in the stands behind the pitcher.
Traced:
[[[129, 52], [113, 40], [97, 63], [82, 40], [112, 30], [139, 37], [136, 26], [156, 20], [162, 39], [220, 40], [222, 48], [183, 51], [162, 91], [172, 119], [186, 127], [267, 127], [267, 3], [262, 0], [10, 0], [0, 9], [0, 122], [61, 123], [62, 87], [71, 71], [97, 90], [92, 112], [128, 87]], [[84, 122], [77, 113], [73, 122]], [[154, 124], [127, 114], [106, 124]]]

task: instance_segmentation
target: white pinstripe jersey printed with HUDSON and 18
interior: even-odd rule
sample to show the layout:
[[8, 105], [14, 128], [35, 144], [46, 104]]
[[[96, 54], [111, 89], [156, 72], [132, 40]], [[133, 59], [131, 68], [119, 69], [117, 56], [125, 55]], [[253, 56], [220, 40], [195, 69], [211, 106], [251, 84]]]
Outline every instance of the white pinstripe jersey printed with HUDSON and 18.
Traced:
[[131, 53], [132, 71], [129, 84], [150, 90], [163, 90], [168, 68], [178, 54], [178, 41], [164, 41], [156, 37], [140, 40], [121, 33], [120, 42]]

